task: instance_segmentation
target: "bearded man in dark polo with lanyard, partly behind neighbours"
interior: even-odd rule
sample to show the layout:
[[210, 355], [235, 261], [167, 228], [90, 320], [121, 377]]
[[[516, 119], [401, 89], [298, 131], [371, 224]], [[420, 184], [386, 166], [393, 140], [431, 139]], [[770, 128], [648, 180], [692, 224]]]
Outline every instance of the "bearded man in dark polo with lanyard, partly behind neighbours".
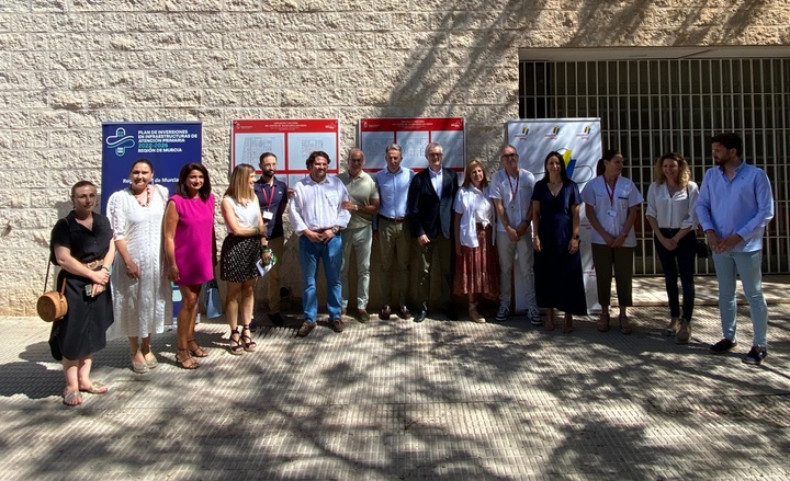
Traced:
[[253, 188], [260, 204], [263, 224], [266, 224], [264, 249], [271, 249], [278, 259], [267, 274], [269, 278], [269, 320], [274, 325], [283, 325], [284, 321], [280, 316], [280, 262], [285, 251], [282, 215], [287, 207], [287, 185], [274, 177], [276, 160], [276, 156], [272, 152], [263, 152], [260, 156], [261, 176], [256, 181]]

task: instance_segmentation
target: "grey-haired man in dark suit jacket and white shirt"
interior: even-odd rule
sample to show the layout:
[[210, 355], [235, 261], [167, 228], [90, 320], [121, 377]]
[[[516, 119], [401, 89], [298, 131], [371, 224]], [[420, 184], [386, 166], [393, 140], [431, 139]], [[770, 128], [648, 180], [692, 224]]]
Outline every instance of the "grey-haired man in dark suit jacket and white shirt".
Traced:
[[441, 270], [441, 299], [450, 320], [458, 314], [452, 309], [452, 250], [453, 202], [458, 192], [458, 174], [442, 167], [442, 146], [431, 142], [426, 147], [428, 169], [418, 173], [409, 184], [407, 217], [411, 236], [417, 239], [420, 253], [418, 301], [415, 322], [428, 316], [430, 271], [433, 261]]

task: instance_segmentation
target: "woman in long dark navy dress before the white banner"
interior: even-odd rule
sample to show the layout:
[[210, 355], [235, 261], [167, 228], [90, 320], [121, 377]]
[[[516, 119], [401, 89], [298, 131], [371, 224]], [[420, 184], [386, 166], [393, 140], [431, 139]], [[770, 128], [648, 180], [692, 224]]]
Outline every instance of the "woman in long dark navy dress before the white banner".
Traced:
[[573, 331], [573, 316], [587, 316], [579, 255], [578, 186], [568, 179], [565, 161], [550, 152], [545, 175], [532, 192], [532, 245], [538, 306], [546, 308], [545, 330], [554, 329], [554, 308], [565, 312], [563, 333]]

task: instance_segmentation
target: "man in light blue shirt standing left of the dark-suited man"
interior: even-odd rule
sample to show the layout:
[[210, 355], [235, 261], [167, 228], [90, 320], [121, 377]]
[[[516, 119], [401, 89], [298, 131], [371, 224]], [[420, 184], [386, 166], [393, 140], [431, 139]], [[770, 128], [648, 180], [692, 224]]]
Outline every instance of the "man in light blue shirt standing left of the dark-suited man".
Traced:
[[[395, 312], [400, 319], [409, 319], [411, 312], [406, 307], [406, 290], [411, 231], [406, 221], [406, 198], [415, 173], [411, 169], [400, 167], [403, 149], [397, 144], [386, 147], [384, 160], [386, 169], [380, 170], [374, 176], [379, 187], [380, 206], [379, 215], [373, 219], [373, 230], [381, 248], [379, 278], [384, 301], [379, 319], [390, 319], [392, 307], [395, 307]], [[393, 280], [395, 280], [395, 297], [392, 297]]]

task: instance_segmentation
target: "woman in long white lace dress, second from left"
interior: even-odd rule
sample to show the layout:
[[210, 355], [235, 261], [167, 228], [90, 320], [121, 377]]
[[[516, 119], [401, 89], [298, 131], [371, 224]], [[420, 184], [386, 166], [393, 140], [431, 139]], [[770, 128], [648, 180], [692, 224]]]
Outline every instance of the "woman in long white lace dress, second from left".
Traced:
[[137, 160], [129, 171], [129, 186], [108, 202], [117, 251], [111, 283], [115, 322], [108, 334], [128, 337], [132, 370], [137, 374], [157, 366], [151, 334], [160, 334], [165, 318], [172, 317], [170, 283], [161, 265], [168, 190], [153, 185], [153, 177], [150, 161]]

